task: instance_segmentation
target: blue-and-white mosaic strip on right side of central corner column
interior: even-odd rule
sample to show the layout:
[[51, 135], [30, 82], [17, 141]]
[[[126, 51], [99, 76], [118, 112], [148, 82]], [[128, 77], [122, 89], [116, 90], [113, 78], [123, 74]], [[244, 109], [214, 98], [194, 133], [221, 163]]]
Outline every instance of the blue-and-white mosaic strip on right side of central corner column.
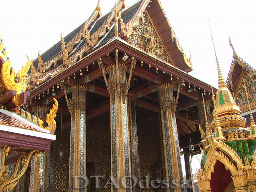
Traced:
[[129, 142], [128, 142], [128, 130], [127, 130], [127, 108], [126, 104], [122, 106], [122, 118], [124, 124], [124, 165], [125, 165], [125, 182], [126, 191], [130, 192], [130, 167], [129, 167]]

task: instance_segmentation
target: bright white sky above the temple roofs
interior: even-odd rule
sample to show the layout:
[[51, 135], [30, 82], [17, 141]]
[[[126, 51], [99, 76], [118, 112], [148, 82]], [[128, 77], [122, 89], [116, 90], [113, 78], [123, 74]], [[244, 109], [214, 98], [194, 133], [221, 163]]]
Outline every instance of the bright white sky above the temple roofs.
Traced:
[[[115, 2], [117, 0], [100, 0], [102, 13], [107, 13]], [[126, 0], [127, 6], [135, 2]], [[224, 78], [232, 60], [229, 35], [237, 54], [256, 68], [255, 1], [161, 0], [161, 3], [188, 57], [191, 52], [191, 75], [217, 86], [208, 20]], [[42, 54], [57, 43], [61, 33], [67, 35], [81, 25], [96, 5], [97, 0], [2, 0], [0, 33], [13, 68], [24, 65], [26, 55], [35, 59], [39, 50]]]

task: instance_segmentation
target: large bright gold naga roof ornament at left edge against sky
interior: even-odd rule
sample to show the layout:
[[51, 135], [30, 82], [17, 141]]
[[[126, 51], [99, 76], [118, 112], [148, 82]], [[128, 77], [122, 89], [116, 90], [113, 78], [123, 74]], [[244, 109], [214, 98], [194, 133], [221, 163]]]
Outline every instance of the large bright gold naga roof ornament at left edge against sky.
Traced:
[[[1, 39], [1, 36], [0, 36]], [[30, 60], [26, 62], [26, 65], [15, 74], [14, 69], [11, 67], [10, 59], [7, 57], [6, 49], [4, 48], [3, 40], [0, 40], [0, 93], [5, 94], [8, 91], [15, 90], [16, 95], [12, 98], [12, 102], [16, 105], [20, 105], [20, 94], [26, 90], [28, 70], [30, 68]]]

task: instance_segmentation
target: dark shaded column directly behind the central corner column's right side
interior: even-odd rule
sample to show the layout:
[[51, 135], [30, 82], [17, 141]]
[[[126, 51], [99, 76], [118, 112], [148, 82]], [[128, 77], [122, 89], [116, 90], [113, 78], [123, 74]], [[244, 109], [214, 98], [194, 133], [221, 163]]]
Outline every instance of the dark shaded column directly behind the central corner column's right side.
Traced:
[[[136, 122], [136, 110], [135, 103], [130, 97], [127, 97], [128, 105], [128, 118], [131, 136], [131, 163], [132, 163], [132, 176], [137, 180], [140, 180], [140, 160], [139, 160], [139, 146], [138, 146], [138, 134], [137, 134], [137, 122]], [[136, 185], [133, 188], [134, 191], [140, 192], [140, 186]]]

